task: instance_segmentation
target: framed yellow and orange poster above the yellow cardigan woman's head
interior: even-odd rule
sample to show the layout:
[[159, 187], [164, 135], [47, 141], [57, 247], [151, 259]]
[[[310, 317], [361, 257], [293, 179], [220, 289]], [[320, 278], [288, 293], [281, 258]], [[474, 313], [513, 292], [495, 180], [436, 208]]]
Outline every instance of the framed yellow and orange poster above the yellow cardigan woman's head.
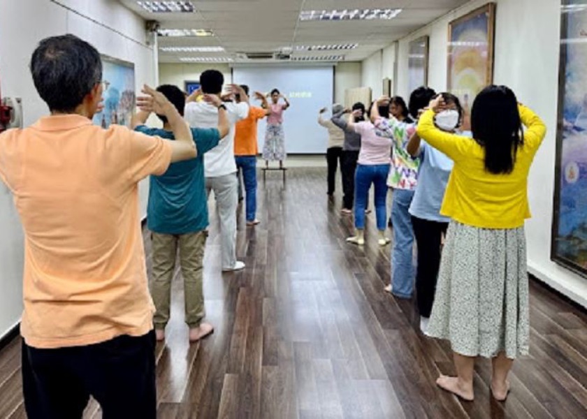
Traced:
[[495, 3], [488, 3], [449, 23], [448, 90], [461, 99], [463, 130], [471, 126], [475, 96], [493, 82]]

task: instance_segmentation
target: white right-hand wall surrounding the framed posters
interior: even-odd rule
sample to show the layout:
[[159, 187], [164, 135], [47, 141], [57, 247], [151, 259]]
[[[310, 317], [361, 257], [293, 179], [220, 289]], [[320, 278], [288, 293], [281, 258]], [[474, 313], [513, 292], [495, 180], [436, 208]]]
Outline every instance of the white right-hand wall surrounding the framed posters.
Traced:
[[[483, 6], [472, 1], [399, 42], [398, 93], [407, 96], [407, 43], [430, 36], [430, 87], [447, 87], [449, 21]], [[528, 270], [556, 290], [587, 307], [587, 279], [550, 260], [553, 216], [554, 163], [560, 45], [560, 1], [498, 0], [495, 24], [496, 84], [507, 84], [520, 101], [530, 105], [546, 122], [549, 132], [532, 166], [529, 179], [533, 217], [526, 223]]]

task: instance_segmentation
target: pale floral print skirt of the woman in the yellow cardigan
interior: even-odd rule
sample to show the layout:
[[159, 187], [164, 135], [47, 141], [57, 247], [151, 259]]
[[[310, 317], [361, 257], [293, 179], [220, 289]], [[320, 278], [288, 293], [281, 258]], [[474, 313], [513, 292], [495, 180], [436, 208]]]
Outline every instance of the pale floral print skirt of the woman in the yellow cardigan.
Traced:
[[427, 335], [465, 356], [528, 355], [528, 268], [524, 228], [452, 221], [442, 251]]

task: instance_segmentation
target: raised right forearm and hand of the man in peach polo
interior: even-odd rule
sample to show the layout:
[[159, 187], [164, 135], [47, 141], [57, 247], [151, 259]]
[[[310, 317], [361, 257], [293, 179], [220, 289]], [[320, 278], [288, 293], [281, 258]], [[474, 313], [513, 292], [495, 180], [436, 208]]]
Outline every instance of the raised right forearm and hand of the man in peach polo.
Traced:
[[155, 112], [159, 115], [165, 115], [171, 131], [175, 137], [175, 141], [170, 141], [171, 144], [171, 162], [194, 159], [198, 155], [194, 137], [191, 134], [189, 125], [184, 121], [180, 112], [175, 106], [167, 100], [161, 92], [149, 87], [145, 84], [143, 93], [146, 96], [140, 96], [137, 99], [137, 105], [141, 111]]

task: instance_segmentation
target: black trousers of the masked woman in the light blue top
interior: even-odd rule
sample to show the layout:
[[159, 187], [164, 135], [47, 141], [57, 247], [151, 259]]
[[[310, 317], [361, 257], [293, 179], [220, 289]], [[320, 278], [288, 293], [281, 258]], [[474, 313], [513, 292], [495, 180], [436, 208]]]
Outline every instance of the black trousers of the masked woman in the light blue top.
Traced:
[[418, 247], [416, 300], [420, 316], [430, 317], [440, 269], [442, 235], [447, 233], [449, 223], [428, 221], [412, 216], [412, 227]]

